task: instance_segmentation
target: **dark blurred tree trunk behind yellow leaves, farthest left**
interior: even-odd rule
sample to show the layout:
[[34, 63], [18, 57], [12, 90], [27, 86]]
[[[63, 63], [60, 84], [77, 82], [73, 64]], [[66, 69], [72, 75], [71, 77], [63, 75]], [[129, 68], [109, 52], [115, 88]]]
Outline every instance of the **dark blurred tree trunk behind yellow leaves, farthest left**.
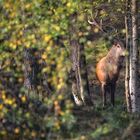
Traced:
[[[41, 52], [37, 48], [24, 50], [24, 86], [28, 91], [34, 91], [35, 94], [35, 91], [38, 92], [37, 86], [40, 85], [48, 96], [51, 93], [51, 86], [47, 83], [47, 74], [40, 76], [41, 70], [46, 66], [45, 62], [39, 63], [40, 55]], [[40, 96], [42, 97], [42, 95]]]

